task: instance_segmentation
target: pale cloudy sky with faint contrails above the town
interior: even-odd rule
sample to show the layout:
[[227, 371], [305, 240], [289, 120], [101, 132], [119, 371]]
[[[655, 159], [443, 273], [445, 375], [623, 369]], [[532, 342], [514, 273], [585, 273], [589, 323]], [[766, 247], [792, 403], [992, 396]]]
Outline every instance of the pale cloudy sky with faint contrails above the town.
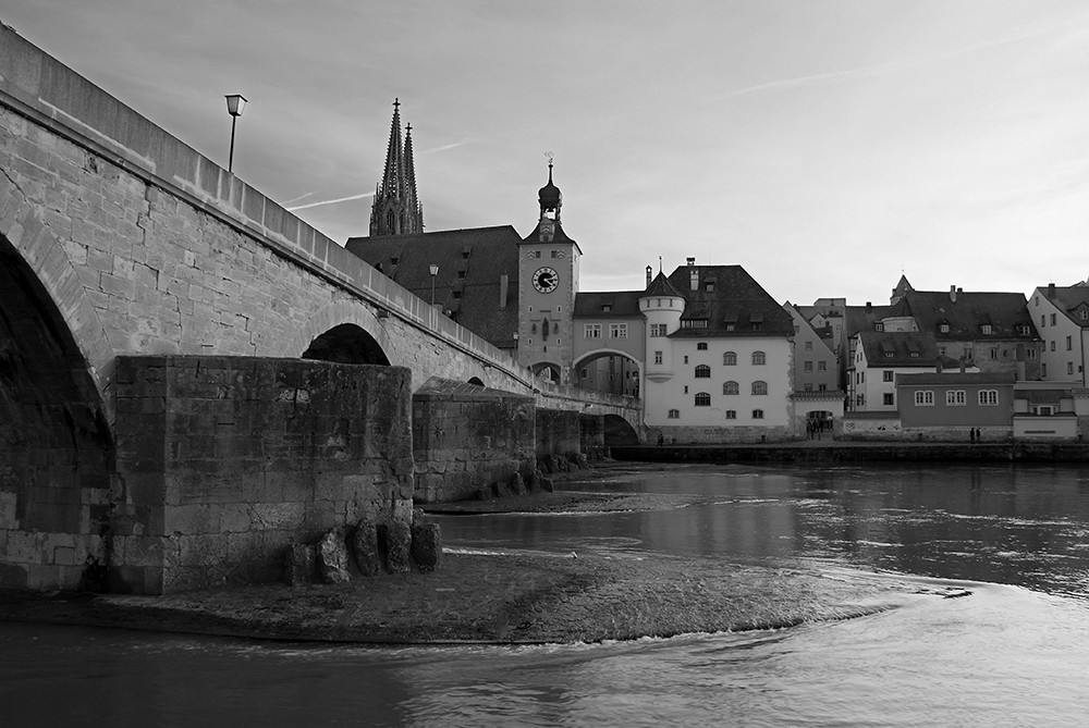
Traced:
[[0, 21], [332, 239], [393, 100], [427, 230], [537, 223], [583, 291], [692, 256], [775, 299], [1089, 279], [1084, 0], [8, 0]]

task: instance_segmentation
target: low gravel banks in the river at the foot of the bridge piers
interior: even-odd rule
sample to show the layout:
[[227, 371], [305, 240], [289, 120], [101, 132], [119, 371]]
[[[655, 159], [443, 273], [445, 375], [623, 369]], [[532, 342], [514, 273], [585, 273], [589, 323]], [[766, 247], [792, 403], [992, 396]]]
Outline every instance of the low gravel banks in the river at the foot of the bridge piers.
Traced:
[[[579, 481], [623, 473], [602, 469]], [[574, 480], [574, 478], [573, 478]], [[572, 488], [578, 488], [571, 483]], [[628, 510], [666, 496], [538, 493], [432, 511]], [[786, 627], [870, 614], [910, 591], [818, 567], [742, 566], [650, 555], [615, 558], [448, 550], [432, 572], [350, 584], [280, 584], [166, 596], [0, 592], [0, 619], [366, 643], [568, 643]]]

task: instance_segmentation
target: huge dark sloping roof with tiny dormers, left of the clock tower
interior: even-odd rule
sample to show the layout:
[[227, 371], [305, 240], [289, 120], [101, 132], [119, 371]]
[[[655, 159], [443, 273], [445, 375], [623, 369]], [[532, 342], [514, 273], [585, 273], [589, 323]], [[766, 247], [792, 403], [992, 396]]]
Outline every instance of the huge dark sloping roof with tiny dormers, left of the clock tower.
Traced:
[[[518, 243], [511, 225], [419, 235], [348, 238], [345, 248], [403, 288], [431, 299], [430, 266], [437, 264], [435, 301], [451, 318], [499, 348], [514, 347], [518, 330]], [[505, 306], [501, 305], [506, 275]]]

